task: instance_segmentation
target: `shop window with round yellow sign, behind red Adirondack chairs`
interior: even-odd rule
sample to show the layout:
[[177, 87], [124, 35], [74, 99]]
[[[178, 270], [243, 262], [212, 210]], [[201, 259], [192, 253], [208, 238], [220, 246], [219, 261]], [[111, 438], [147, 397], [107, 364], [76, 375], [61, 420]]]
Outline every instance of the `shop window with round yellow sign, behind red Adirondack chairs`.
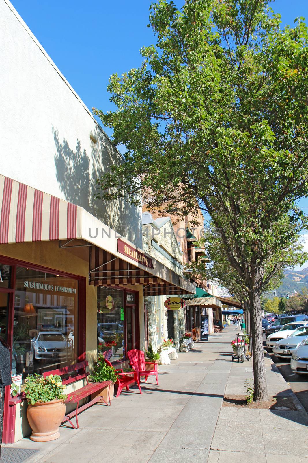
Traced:
[[112, 349], [110, 361], [124, 354], [123, 291], [97, 288], [97, 344], [100, 351]]

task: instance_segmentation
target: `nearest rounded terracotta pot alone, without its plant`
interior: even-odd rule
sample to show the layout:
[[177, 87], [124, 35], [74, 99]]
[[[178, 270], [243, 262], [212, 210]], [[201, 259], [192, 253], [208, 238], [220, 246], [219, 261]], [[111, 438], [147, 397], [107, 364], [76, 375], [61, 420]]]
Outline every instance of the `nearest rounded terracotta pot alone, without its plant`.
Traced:
[[31, 440], [47, 442], [60, 437], [59, 426], [65, 415], [62, 400], [28, 405], [27, 418], [32, 429]]

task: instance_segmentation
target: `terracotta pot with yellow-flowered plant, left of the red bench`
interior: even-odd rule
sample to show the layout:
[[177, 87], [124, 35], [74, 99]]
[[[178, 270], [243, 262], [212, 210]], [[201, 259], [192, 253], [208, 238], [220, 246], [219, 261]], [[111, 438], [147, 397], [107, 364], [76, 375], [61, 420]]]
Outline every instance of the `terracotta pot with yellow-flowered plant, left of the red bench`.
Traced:
[[31, 375], [25, 379], [28, 400], [27, 418], [32, 429], [31, 440], [47, 442], [60, 437], [59, 426], [65, 415], [66, 386], [58, 375]]

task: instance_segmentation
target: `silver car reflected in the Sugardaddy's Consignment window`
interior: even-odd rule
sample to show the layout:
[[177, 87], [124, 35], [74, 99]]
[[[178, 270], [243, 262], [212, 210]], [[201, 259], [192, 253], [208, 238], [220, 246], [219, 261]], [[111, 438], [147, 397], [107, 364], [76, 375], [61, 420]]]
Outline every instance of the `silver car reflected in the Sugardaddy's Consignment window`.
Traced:
[[31, 340], [33, 360], [72, 357], [72, 345], [62, 333], [42, 331]]

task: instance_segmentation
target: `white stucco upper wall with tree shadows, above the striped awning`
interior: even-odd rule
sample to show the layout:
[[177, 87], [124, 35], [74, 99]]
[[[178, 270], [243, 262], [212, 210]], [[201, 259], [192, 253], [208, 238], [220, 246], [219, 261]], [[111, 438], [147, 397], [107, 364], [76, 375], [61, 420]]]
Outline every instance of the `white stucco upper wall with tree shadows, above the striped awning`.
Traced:
[[141, 211], [93, 199], [120, 153], [8, 0], [0, 0], [0, 69], [0, 173], [84, 207], [141, 248]]

